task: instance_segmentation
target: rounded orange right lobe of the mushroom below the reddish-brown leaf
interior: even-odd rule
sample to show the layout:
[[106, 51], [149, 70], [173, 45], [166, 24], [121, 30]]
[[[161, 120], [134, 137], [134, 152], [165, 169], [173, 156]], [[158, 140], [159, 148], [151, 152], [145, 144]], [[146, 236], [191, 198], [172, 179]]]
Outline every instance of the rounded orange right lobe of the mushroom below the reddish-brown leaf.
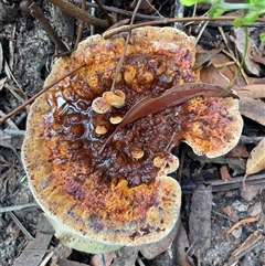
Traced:
[[194, 97], [187, 105], [186, 116], [183, 139], [197, 155], [220, 157], [239, 142], [243, 120], [237, 99]]

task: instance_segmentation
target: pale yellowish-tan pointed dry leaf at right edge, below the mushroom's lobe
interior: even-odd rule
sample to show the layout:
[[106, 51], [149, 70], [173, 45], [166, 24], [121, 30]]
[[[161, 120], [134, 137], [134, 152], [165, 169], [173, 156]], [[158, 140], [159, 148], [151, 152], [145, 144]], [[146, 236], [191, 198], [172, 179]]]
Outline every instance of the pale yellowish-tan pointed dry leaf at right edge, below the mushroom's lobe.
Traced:
[[252, 150], [246, 162], [246, 175], [259, 172], [265, 169], [265, 138]]

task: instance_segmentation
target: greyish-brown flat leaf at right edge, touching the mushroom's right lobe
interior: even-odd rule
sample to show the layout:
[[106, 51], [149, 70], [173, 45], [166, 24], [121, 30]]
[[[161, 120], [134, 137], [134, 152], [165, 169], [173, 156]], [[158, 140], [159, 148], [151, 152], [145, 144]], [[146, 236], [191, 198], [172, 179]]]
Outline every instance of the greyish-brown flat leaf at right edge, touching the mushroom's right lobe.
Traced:
[[240, 98], [240, 113], [265, 126], [265, 103], [248, 97]]

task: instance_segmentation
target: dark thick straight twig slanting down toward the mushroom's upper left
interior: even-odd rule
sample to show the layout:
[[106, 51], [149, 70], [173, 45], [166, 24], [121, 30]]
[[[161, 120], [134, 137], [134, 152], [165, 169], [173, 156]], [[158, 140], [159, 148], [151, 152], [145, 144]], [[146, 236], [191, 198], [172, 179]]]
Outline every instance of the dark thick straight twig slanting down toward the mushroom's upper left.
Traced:
[[49, 20], [44, 17], [43, 12], [41, 11], [40, 7], [35, 4], [33, 0], [28, 0], [29, 9], [31, 14], [38, 19], [46, 32], [52, 36], [53, 41], [55, 42], [56, 46], [62, 51], [66, 52], [67, 47], [63, 43], [63, 41], [59, 38], [57, 33], [53, 30], [52, 25], [50, 24]]

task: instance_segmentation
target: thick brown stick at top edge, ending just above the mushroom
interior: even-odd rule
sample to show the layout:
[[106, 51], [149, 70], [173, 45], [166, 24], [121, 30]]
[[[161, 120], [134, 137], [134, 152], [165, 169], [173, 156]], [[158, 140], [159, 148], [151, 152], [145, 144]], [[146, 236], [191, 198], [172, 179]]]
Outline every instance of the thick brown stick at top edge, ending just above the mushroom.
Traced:
[[107, 20], [97, 19], [97, 18], [88, 14], [84, 10], [75, 7], [73, 3], [71, 3], [66, 0], [47, 0], [47, 1], [53, 3], [54, 6], [59, 7], [66, 13], [73, 15], [88, 24], [93, 24], [95, 26], [103, 28], [103, 29], [107, 29], [109, 26], [109, 23]]

